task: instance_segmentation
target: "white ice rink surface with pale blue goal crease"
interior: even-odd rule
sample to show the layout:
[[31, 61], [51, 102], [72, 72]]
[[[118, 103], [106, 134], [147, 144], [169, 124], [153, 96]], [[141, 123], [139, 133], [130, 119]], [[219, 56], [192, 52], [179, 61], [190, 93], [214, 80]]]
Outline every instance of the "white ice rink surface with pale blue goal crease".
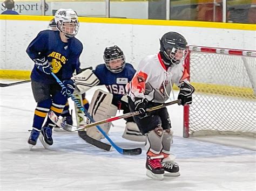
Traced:
[[[90, 90], [89, 100], [92, 94]], [[227, 142], [182, 138], [181, 106], [168, 108], [174, 130], [171, 150], [177, 155], [181, 176], [156, 181], [146, 176], [143, 143], [122, 138], [123, 119], [113, 122], [110, 137], [123, 148], [143, 147], [141, 155], [99, 150], [80, 139], [77, 132], [53, 132], [50, 150], [38, 142], [29, 151], [28, 130], [36, 106], [30, 83], [0, 88], [0, 96], [1, 191], [256, 190], [255, 151], [228, 146]]]

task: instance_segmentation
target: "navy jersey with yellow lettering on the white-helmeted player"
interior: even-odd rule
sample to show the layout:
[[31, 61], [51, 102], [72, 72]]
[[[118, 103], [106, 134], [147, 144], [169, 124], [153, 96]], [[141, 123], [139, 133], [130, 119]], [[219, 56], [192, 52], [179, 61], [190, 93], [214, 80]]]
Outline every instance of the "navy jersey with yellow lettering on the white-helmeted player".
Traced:
[[[38, 33], [26, 49], [29, 57], [33, 60], [45, 56], [52, 66], [52, 72], [60, 81], [68, 80], [80, 65], [79, 56], [83, 51], [82, 43], [75, 37], [70, 38], [68, 43], [60, 39], [59, 31], [44, 30]], [[54, 84], [56, 80], [48, 74], [32, 69], [31, 80]]]

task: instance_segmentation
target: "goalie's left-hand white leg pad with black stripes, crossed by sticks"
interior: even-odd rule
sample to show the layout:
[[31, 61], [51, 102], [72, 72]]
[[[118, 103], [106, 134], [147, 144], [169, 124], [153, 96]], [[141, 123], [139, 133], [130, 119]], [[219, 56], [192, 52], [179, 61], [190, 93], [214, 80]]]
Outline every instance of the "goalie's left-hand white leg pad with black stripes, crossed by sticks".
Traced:
[[[92, 118], [97, 122], [106, 118], [110, 118], [111, 116], [116, 116], [117, 107], [112, 102], [113, 95], [111, 93], [107, 93], [103, 90], [97, 89], [93, 95], [90, 107], [88, 109], [89, 114]], [[87, 123], [90, 121], [87, 119]], [[104, 123], [100, 125], [100, 128], [103, 129], [106, 133], [110, 130], [111, 123]], [[93, 139], [100, 140], [104, 138], [102, 133], [93, 126], [86, 130], [87, 135]]]

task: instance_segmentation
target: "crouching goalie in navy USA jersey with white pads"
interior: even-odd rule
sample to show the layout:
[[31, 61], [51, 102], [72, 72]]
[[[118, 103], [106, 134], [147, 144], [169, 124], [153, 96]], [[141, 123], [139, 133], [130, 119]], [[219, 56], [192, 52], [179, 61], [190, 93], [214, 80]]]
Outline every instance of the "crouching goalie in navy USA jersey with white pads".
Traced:
[[[95, 121], [116, 116], [117, 110], [123, 110], [124, 114], [130, 112], [127, 99], [125, 98], [125, 86], [131, 81], [136, 70], [130, 63], [126, 63], [125, 55], [118, 46], [106, 47], [103, 55], [105, 63], [100, 64], [95, 70], [86, 69], [84, 72], [72, 77], [76, 82], [75, 93], [84, 93], [93, 86], [105, 85], [109, 93], [96, 90], [89, 106], [89, 114]], [[145, 142], [146, 137], [140, 133], [133, 118], [127, 118], [123, 138]], [[110, 123], [100, 125], [108, 133]], [[88, 136], [100, 140], [102, 133], [96, 127], [86, 130]]]

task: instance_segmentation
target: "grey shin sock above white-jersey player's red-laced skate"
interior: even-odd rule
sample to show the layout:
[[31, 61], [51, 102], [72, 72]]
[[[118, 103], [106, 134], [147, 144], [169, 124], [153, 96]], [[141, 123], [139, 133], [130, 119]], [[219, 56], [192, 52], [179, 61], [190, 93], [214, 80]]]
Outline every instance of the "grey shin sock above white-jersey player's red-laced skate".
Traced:
[[161, 125], [158, 125], [154, 130], [147, 133], [146, 137], [146, 153], [147, 155], [159, 155], [163, 150], [162, 139], [164, 130]]

